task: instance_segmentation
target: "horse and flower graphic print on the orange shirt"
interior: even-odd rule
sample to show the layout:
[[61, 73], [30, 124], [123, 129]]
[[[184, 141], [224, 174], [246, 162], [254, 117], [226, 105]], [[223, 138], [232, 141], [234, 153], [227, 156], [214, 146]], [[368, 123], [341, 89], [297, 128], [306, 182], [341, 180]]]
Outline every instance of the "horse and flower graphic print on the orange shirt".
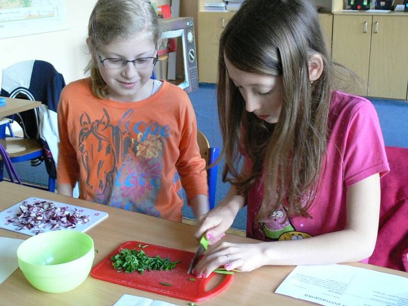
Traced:
[[95, 202], [156, 217], [162, 182], [162, 160], [170, 126], [130, 122], [134, 110], [124, 112], [117, 125], [104, 109], [101, 118], [83, 113], [79, 149], [81, 172]]

